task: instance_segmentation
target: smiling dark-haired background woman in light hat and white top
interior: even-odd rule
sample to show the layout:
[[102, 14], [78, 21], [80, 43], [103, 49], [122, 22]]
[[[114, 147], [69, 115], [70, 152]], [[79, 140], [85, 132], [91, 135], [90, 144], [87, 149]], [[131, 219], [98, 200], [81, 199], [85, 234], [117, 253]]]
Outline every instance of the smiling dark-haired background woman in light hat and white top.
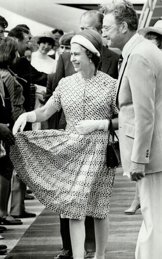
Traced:
[[54, 47], [53, 34], [50, 31], [44, 32], [38, 40], [38, 50], [32, 53], [31, 65], [38, 71], [46, 74], [55, 72], [56, 61], [47, 54]]

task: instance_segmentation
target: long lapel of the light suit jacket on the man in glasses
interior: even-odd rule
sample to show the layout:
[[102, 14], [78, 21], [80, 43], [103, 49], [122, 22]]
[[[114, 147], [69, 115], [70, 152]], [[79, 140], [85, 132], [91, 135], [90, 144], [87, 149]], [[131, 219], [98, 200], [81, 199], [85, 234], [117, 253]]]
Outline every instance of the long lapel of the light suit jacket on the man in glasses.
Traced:
[[122, 81], [122, 76], [124, 74], [124, 70], [125, 70], [126, 65], [127, 65], [128, 58], [129, 58], [132, 50], [134, 49], [134, 47], [143, 40], [144, 40], [144, 37], [142, 35], [139, 35], [139, 37], [136, 38], [135, 41], [131, 44], [131, 46], [128, 48], [128, 50], [125, 54], [125, 57], [123, 59], [122, 65], [120, 67], [118, 80], [117, 80], [117, 92], [116, 92], [116, 106], [117, 106], [117, 108], [118, 108], [118, 94], [119, 94], [119, 90], [120, 90], [120, 84], [121, 84], [121, 81]]

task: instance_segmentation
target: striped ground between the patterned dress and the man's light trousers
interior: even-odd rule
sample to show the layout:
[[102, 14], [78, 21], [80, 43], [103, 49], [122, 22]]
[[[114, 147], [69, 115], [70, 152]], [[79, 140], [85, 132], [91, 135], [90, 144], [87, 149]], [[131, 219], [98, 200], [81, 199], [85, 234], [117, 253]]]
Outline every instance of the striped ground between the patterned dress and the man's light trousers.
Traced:
[[133, 200], [135, 182], [122, 176], [122, 168], [116, 171], [110, 201], [110, 233], [106, 259], [134, 259], [138, 232], [142, 223], [140, 209], [134, 215], [125, 215]]

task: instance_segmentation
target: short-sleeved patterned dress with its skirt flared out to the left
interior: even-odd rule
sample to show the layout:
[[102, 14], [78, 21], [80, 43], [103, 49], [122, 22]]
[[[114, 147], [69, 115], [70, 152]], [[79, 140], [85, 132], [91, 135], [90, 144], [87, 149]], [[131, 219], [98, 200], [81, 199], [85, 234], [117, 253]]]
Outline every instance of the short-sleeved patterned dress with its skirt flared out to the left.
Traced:
[[99, 71], [62, 78], [47, 102], [65, 113], [65, 131], [49, 129], [16, 134], [11, 160], [22, 181], [48, 208], [70, 218], [107, 218], [115, 169], [106, 167], [108, 132], [78, 134], [81, 120], [104, 120], [117, 113], [116, 80]]

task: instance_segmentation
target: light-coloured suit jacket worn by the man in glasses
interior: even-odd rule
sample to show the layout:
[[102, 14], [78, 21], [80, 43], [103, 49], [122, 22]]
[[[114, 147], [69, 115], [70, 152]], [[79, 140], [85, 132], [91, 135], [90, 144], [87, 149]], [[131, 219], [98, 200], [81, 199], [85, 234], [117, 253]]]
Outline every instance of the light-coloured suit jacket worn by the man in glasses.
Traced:
[[162, 171], [162, 52], [143, 36], [127, 50], [116, 98], [123, 170], [133, 161], [146, 174]]

